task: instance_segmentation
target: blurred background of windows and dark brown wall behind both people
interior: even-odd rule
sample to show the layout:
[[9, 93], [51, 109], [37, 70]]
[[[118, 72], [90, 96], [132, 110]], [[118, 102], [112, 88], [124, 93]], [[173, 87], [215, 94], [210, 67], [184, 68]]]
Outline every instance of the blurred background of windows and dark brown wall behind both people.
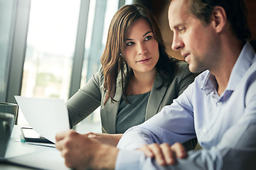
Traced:
[[[256, 1], [245, 0], [252, 40], [256, 40]], [[169, 55], [172, 32], [169, 0], [0, 0], [0, 102], [14, 96], [67, 101], [100, 67], [107, 30], [124, 4], [147, 6], [159, 21]], [[100, 132], [99, 108], [77, 126]], [[28, 125], [21, 111], [18, 125]]]

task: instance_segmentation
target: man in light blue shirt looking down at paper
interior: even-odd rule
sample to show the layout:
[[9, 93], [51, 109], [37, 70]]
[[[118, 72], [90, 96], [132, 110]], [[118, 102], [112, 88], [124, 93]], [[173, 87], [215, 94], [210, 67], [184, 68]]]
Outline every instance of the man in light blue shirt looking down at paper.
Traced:
[[[242, 0], [172, 0], [172, 48], [181, 51], [191, 72], [204, 72], [171, 106], [127, 130], [119, 149], [73, 131], [58, 134], [56, 147], [66, 165], [256, 169], [256, 55], [247, 42], [246, 17]], [[174, 144], [193, 137], [198, 137], [203, 149], [186, 153], [182, 145]], [[148, 157], [134, 150], [138, 148]]]

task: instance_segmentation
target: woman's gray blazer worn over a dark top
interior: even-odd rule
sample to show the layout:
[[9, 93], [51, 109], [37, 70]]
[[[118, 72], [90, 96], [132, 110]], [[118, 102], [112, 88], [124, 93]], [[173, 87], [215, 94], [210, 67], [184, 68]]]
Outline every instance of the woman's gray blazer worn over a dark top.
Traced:
[[[160, 74], [157, 73], [153, 88], [151, 89], [149, 101], [146, 106], [145, 120], [148, 120], [156, 113], [159, 113], [161, 108], [164, 106], [170, 105], [173, 100], [193, 82], [196, 75], [197, 74], [192, 74], [188, 70], [188, 64], [186, 62], [178, 62], [171, 84], [156, 90], [162, 82]], [[101, 106], [100, 115], [102, 121], [102, 132], [110, 134], [116, 133], [117, 112], [119, 102], [122, 97], [121, 77], [117, 77], [117, 92], [114, 96], [114, 100], [117, 102], [112, 103], [111, 100], [108, 100], [105, 106], [103, 104], [106, 93], [103, 88], [103, 83], [104, 75], [102, 73], [102, 69], [100, 69], [100, 71], [94, 74], [82, 89], [79, 89], [78, 92], [68, 100], [67, 106], [70, 127], [79, 123], [95, 111], [98, 106]]]

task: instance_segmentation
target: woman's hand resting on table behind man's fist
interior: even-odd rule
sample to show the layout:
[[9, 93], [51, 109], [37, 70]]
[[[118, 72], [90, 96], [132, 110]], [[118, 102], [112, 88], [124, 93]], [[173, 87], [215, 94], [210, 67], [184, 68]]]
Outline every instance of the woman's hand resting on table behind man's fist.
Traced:
[[122, 134], [107, 134], [107, 133], [94, 133], [94, 132], [88, 132], [85, 135], [87, 137], [91, 137], [101, 142], [102, 144], [112, 145], [114, 147], [117, 146], [117, 143], [122, 137]]

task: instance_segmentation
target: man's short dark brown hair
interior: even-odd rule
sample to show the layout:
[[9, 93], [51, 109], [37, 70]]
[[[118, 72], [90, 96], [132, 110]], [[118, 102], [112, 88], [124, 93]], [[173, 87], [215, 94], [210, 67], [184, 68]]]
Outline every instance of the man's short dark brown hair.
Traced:
[[210, 22], [215, 6], [224, 8], [233, 33], [241, 41], [250, 40], [251, 33], [247, 23], [247, 7], [243, 0], [187, 0], [190, 12], [204, 23]]

